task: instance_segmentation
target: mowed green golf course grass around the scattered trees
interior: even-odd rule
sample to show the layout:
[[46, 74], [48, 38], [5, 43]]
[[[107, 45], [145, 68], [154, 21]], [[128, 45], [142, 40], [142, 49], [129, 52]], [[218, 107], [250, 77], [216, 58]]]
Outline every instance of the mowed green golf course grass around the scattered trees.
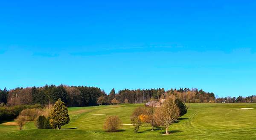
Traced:
[[[130, 124], [132, 111], [143, 104], [120, 104], [69, 108], [70, 123], [61, 130], [36, 129], [33, 122], [19, 131], [17, 126], [0, 124], [0, 139], [80, 139], [80, 140], [169, 140], [169, 139], [256, 139], [256, 104], [187, 104], [188, 113], [169, 127], [170, 135], [162, 135], [161, 128], [151, 132], [143, 125], [139, 133], [133, 126], [123, 125], [119, 132], [104, 132], [109, 115], [117, 115], [122, 124]], [[254, 108], [236, 110], [241, 108]], [[95, 115], [105, 114], [105, 115]]]

